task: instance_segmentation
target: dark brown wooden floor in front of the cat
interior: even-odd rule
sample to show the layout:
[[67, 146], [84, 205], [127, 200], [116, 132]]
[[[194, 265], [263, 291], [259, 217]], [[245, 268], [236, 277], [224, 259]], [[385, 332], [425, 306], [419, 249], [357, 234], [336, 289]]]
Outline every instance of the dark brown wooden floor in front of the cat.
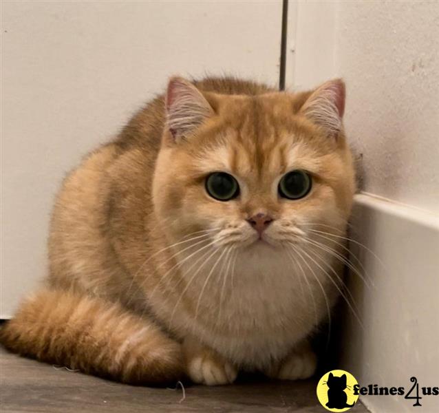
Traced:
[[[327, 412], [314, 381], [241, 381], [177, 389], [133, 387], [23, 359], [0, 348], [0, 411], [12, 412]], [[365, 413], [363, 405], [350, 412]]]

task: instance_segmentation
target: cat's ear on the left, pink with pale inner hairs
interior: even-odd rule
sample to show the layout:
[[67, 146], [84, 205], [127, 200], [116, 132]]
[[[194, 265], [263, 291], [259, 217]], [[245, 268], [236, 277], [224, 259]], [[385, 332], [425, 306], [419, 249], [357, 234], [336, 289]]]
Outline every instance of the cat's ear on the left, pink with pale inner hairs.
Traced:
[[202, 93], [184, 78], [169, 80], [165, 96], [167, 128], [175, 142], [187, 138], [214, 112]]

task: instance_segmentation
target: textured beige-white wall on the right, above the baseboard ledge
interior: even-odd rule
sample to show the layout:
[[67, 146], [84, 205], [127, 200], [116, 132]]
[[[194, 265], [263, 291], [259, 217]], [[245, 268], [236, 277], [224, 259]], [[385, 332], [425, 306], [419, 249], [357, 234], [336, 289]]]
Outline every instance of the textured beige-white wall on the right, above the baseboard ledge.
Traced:
[[439, 3], [343, 1], [335, 73], [364, 190], [439, 213]]

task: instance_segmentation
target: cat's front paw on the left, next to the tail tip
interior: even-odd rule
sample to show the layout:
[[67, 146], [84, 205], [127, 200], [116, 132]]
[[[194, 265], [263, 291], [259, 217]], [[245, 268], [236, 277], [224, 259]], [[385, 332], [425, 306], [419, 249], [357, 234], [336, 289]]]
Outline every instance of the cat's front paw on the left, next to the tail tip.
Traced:
[[212, 354], [198, 354], [188, 361], [187, 374], [194, 383], [221, 385], [233, 383], [237, 370], [228, 361], [212, 357]]

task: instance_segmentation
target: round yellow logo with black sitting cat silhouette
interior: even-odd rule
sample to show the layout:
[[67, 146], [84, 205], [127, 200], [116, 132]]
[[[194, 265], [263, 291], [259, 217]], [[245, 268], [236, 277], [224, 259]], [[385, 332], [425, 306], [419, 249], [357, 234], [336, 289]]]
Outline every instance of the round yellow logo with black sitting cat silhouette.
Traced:
[[358, 384], [352, 374], [345, 370], [332, 370], [323, 374], [317, 384], [317, 398], [330, 412], [345, 412], [358, 400], [354, 385]]

